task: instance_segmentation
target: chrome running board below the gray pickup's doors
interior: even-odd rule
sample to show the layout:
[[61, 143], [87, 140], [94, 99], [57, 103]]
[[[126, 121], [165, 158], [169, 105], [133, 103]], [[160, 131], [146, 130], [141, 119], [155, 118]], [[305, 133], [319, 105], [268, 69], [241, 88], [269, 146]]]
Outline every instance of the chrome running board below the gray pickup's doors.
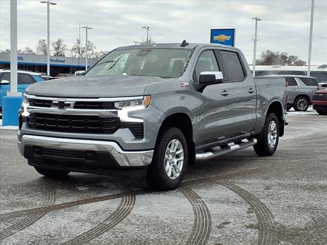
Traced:
[[202, 152], [202, 153], [197, 153], [195, 155], [197, 160], [207, 160], [207, 159], [211, 159], [217, 156], [221, 156], [230, 152], [235, 152], [235, 151], [239, 151], [242, 150], [244, 148], [247, 148], [249, 146], [252, 146], [254, 144], [256, 144], [256, 142], [258, 142], [258, 140], [256, 140], [256, 138], [252, 138], [249, 139], [247, 142], [242, 142], [239, 144], [233, 144], [233, 145], [228, 145], [226, 146], [226, 148], [218, 148], [219, 150], [212, 150], [209, 152]]

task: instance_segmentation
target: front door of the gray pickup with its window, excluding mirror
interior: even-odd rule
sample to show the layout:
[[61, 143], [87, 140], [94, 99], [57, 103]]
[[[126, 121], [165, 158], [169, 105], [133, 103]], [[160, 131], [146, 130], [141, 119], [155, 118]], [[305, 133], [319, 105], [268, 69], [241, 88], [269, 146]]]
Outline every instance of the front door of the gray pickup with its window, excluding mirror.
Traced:
[[[213, 48], [202, 50], [194, 69], [195, 83], [199, 82], [201, 71], [222, 71], [219, 64]], [[197, 146], [228, 138], [233, 122], [229, 114], [229, 84], [206, 86], [203, 91], [196, 91], [196, 97], [201, 102], [197, 116]]]

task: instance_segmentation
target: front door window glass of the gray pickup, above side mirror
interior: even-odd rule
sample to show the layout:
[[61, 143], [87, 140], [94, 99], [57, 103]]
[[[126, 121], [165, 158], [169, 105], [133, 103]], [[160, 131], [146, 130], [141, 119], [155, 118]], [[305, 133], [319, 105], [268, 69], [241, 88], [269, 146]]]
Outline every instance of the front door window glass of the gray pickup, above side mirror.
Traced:
[[201, 53], [194, 70], [196, 82], [199, 82], [200, 73], [202, 71], [220, 71], [214, 51], [207, 50]]

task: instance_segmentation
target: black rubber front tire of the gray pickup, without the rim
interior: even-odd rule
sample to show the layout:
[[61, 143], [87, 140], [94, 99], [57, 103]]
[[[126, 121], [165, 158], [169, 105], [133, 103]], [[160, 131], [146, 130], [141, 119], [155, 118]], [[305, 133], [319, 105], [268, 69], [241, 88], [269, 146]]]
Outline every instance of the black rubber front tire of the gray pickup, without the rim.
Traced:
[[[174, 139], [177, 139], [181, 143], [184, 160], [179, 176], [176, 179], [170, 179], [166, 173], [165, 155], [168, 145]], [[159, 133], [152, 163], [148, 168], [146, 176], [148, 185], [156, 190], [171, 190], [177, 188], [184, 178], [188, 166], [188, 158], [188, 143], [183, 133], [178, 128], [163, 129]]]

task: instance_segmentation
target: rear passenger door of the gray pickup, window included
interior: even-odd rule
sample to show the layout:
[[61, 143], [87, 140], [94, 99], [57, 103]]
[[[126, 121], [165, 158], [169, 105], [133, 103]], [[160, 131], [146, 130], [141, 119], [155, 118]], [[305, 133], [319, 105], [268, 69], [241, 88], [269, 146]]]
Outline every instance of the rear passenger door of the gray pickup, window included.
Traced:
[[230, 86], [233, 118], [232, 136], [253, 131], [256, 120], [256, 91], [253, 77], [247, 74], [241, 54], [237, 51], [220, 51]]

